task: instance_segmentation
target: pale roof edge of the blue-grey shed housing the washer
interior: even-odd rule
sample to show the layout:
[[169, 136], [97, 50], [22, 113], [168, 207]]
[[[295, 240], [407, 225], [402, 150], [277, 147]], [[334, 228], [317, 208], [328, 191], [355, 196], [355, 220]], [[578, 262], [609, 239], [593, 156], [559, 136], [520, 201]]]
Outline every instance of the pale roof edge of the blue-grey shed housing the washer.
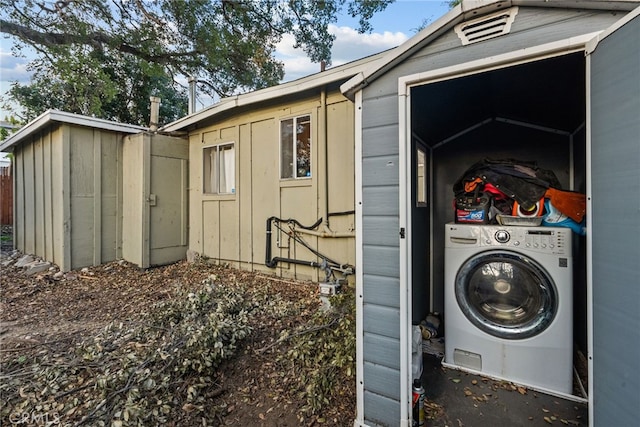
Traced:
[[394, 68], [460, 22], [512, 6], [631, 11], [640, 6], [640, 0], [463, 0], [459, 5], [405, 43], [388, 51], [381, 59], [370, 64], [367, 68], [353, 76], [340, 86], [340, 90], [347, 98], [353, 100], [356, 92], [371, 84], [371, 82], [378, 77]]

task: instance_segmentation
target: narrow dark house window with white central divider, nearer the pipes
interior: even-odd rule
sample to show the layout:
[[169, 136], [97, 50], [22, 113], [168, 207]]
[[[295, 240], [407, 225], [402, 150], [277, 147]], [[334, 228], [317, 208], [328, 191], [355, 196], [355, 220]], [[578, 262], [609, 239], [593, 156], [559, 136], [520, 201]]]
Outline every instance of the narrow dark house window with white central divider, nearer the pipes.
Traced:
[[311, 177], [311, 116], [280, 122], [280, 178]]

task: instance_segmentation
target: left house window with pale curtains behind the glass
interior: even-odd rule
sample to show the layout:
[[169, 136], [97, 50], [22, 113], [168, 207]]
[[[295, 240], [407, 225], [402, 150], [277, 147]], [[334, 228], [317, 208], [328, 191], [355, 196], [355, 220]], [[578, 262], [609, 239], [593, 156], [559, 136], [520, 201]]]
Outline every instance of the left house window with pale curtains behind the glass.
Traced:
[[204, 193], [235, 194], [236, 152], [234, 144], [206, 147], [203, 154]]

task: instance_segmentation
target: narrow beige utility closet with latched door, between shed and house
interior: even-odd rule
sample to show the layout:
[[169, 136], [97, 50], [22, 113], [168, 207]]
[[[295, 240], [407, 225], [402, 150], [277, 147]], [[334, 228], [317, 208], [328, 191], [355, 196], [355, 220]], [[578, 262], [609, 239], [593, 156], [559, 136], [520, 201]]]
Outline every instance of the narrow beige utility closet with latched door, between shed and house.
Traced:
[[184, 259], [187, 251], [185, 139], [139, 133], [123, 142], [122, 256], [147, 268]]

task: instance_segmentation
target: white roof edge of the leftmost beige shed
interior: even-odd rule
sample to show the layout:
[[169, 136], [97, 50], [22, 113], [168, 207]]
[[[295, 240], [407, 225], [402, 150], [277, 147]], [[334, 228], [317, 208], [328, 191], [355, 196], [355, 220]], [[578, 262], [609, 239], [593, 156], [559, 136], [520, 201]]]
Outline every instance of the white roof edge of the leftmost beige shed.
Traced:
[[47, 110], [20, 128], [20, 130], [12, 134], [9, 138], [2, 141], [0, 144], [0, 151], [6, 151], [13, 146], [19, 145], [24, 142], [26, 138], [36, 132], [42, 131], [52, 123], [68, 123], [122, 133], [138, 133], [147, 129], [142, 126], [118, 123], [110, 120], [83, 116], [81, 114], [67, 113], [59, 110]]

